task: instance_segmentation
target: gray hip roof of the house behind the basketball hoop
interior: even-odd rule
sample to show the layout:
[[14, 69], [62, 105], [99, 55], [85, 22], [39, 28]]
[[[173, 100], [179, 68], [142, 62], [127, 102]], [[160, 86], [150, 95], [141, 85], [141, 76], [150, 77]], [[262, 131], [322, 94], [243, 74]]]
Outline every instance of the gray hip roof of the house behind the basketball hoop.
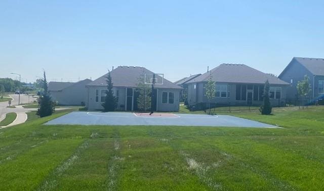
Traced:
[[[110, 71], [111, 80], [115, 87], [137, 87], [138, 79], [144, 74], [153, 74], [153, 72], [138, 66], [118, 66]], [[106, 76], [108, 76], [108, 73], [92, 81], [87, 86], [106, 86]], [[163, 84], [155, 84], [154, 87], [182, 89], [182, 87], [167, 79], [163, 80]]]

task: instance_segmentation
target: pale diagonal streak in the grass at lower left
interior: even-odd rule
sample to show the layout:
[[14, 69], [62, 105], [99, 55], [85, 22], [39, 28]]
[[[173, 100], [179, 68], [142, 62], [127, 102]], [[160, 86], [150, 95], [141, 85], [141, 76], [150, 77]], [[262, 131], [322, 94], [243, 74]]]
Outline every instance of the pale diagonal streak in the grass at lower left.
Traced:
[[79, 154], [89, 147], [89, 142], [86, 141], [82, 145], [80, 145], [76, 152], [68, 158], [63, 164], [58, 166], [52, 175], [50, 175], [49, 178], [47, 178], [42, 185], [38, 188], [38, 190], [50, 190], [56, 187], [57, 185], [57, 178], [61, 176], [70, 166], [73, 165], [73, 163], [79, 158]]

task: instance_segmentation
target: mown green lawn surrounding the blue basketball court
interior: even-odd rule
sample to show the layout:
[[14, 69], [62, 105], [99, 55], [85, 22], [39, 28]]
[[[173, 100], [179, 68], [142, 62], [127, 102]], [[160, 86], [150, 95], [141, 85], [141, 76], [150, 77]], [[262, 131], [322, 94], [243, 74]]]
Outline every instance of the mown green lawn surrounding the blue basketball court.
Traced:
[[231, 113], [284, 129], [42, 125], [65, 113], [0, 129], [0, 189], [324, 189], [324, 107]]

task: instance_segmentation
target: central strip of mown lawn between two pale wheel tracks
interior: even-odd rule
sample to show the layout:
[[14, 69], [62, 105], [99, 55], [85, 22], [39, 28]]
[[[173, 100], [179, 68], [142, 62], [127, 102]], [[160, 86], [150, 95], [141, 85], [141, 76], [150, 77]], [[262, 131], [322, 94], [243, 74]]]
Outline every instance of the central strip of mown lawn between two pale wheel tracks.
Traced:
[[121, 156], [125, 161], [121, 168], [123, 177], [119, 177], [118, 189], [209, 189], [188, 170], [178, 152], [163, 141], [151, 137], [123, 138], [122, 148]]

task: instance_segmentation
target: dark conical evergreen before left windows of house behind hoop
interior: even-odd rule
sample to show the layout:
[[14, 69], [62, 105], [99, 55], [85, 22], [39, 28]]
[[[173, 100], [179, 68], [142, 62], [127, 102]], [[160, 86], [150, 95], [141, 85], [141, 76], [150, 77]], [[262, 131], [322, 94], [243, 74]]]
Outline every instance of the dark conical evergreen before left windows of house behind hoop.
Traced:
[[102, 104], [103, 110], [105, 112], [114, 111], [117, 108], [117, 100], [112, 93], [113, 83], [111, 81], [110, 71], [108, 72], [107, 80], [107, 90], [105, 102]]

